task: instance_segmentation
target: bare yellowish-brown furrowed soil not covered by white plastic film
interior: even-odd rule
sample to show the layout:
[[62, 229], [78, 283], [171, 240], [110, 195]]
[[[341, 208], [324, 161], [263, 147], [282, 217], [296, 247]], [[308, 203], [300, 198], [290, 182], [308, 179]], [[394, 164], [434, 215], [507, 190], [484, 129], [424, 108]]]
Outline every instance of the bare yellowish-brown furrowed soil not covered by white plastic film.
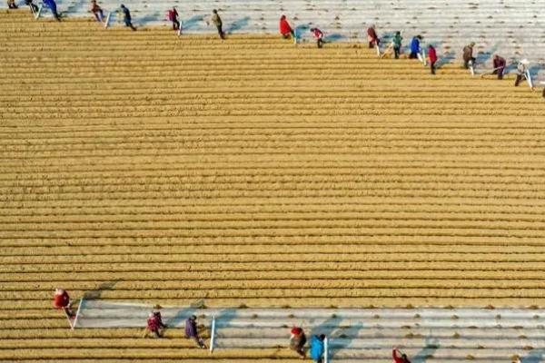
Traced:
[[178, 330], [70, 331], [60, 286], [171, 305], [545, 305], [545, 102], [525, 85], [362, 45], [24, 11], [0, 14], [0, 49], [0, 361], [211, 359]]

